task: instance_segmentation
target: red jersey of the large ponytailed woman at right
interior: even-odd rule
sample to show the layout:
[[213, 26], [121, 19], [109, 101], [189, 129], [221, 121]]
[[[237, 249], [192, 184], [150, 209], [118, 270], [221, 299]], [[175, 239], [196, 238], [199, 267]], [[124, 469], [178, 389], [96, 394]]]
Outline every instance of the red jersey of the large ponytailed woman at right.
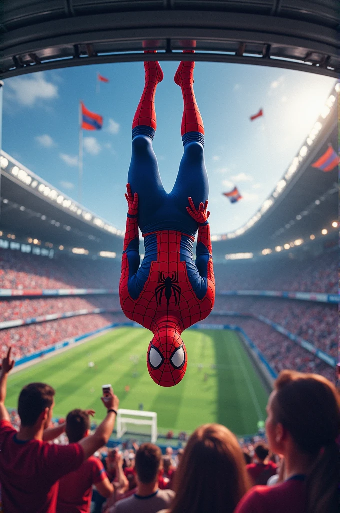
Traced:
[[254, 486], [234, 513], [307, 513], [307, 491], [302, 476], [277, 486]]

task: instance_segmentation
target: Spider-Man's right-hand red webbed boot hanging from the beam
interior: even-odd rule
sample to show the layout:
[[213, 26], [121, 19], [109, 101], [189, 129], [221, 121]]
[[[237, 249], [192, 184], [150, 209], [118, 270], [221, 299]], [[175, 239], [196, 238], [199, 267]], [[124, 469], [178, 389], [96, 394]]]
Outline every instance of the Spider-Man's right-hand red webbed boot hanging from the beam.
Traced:
[[[183, 53], [194, 53], [195, 50], [184, 50]], [[182, 88], [184, 112], [181, 132], [200, 132], [204, 134], [204, 125], [194, 92], [194, 61], [181, 61], [175, 75], [175, 82]]]

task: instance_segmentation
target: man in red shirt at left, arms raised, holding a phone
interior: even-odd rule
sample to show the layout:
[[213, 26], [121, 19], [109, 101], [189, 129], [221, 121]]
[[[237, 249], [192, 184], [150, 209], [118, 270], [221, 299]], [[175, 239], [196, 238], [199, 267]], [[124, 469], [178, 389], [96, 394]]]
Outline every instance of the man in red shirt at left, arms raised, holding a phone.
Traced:
[[84, 460], [106, 445], [114, 428], [119, 400], [105, 399], [108, 415], [91, 437], [60, 446], [48, 441], [65, 431], [65, 424], [48, 429], [55, 390], [45, 383], [30, 383], [20, 392], [17, 432], [5, 407], [8, 373], [14, 367], [11, 348], [0, 373], [0, 482], [6, 513], [56, 513], [59, 479], [78, 469]]

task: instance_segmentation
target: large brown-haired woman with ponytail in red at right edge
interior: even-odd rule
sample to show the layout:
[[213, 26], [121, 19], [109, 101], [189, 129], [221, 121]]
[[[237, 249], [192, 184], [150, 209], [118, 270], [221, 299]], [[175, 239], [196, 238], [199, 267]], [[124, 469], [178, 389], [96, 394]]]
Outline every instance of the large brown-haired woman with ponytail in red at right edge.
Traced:
[[268, 406], [270, 449], [285, 458], [285, 482], [256, 486], [235, 513], [336, 513], [340, 396], [319, 374], [283, 370]]

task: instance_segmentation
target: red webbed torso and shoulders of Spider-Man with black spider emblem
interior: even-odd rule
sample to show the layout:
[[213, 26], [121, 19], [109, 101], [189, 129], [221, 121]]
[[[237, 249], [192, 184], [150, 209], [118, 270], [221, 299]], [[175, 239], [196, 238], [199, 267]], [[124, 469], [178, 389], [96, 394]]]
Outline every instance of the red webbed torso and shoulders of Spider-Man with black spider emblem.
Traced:
[[[139, 297], [134, 300], [128, 290], [128, 258], [123, 255], [120, 298], [125, 315], [155, 332], [164, 319], [184, 329], [205, 319], [214, 307], [215, 283], [213, 264], [209, 262], [208, 288], [198, 299], [189, 281], [186, 263], [180, 261], [182, 234], [177, 231], [157, 232], [158, 258], [152, 262], [148, 279]], [[125, 259], [125, 261], [124, 261]]]

